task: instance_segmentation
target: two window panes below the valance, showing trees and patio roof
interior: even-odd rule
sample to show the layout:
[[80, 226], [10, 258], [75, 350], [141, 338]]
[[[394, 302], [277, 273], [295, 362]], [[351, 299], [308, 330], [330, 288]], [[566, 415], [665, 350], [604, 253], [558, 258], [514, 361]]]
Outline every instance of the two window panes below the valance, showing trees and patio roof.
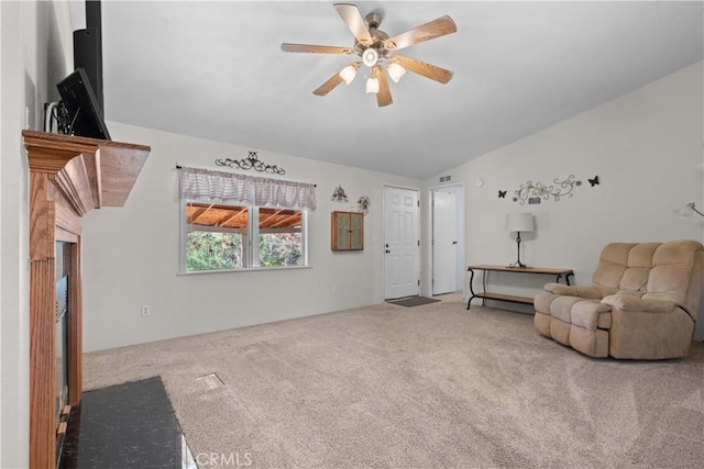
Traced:
[[184, 216], [186, 271], [306, 265], [305, 211], [187, 202]]

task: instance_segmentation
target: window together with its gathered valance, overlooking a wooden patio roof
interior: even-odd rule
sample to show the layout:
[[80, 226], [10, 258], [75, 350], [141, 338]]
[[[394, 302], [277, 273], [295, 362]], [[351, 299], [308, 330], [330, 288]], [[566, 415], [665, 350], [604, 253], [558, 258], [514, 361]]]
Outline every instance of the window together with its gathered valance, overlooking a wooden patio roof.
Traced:
[[[194, 182], [193, 178], [189, 179], [193, 174], [187, 171], [198, 171], [196, 179], [200, 181]], [[254, 180], [252, 191], [241, 187], [245, 179], [248, 183]], [[232, 187], [229, 187], [231, 183]], [[194, 186], [199, 185], [205, 188], [205, 193], [194, 190]], [[292, 189], [288, 181], [182, 168], [180, 270], [194, 272], [307, 266], [306, 224], [310, 206], [315, 208], [315, 192], [310, 192], [315, 186], [293, 182], [295, 186]], [[223, 197], [228, 191], [235, 191], [237, 197]], [[246, 192], [253, 192], [267, 202], [289, 206], [226, 203], [245, 199], [256, 202], [256, 197], [242, 197]], [[307, 202], [298, 203], [301, 200]]]

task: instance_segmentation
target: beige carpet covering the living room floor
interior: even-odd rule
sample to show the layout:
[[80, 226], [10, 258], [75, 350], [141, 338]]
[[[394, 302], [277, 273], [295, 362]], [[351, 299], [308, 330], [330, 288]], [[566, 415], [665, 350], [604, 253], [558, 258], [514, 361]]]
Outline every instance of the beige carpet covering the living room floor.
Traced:
[[[224, 387], [197, 379], [211, 372]], [[457, 295], [85, 357], [87, 389], [156, 375], [195, 456], [233, 455], [250, 467], [704, 460], [704, 344], [683, 360], [590, 359], [539, 336], [530, 315], [466, 311]]]

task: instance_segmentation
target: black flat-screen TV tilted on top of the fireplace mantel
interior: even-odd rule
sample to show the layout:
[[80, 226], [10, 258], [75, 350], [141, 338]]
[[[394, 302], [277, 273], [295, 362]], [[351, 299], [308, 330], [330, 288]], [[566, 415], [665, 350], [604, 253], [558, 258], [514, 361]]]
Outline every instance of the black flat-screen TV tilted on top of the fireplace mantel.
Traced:
[[66, 109], [66, 133], [81, 137], [110, 139], [110, 133], [101, 118], [100, 104], [86, 70], [77, 68], [56, 85], [56, 88]]

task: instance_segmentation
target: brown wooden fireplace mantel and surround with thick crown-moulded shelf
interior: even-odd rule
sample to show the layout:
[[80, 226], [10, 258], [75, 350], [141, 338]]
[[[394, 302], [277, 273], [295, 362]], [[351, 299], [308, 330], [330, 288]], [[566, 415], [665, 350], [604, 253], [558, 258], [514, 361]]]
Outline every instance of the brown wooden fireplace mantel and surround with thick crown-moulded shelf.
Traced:
[[72, 243], [68, 401], [82, 393], [80, 219], [123, 206], [151, 148], [22, 131], [30, 167], [30, 467], [56, 468], [56, 242]]

